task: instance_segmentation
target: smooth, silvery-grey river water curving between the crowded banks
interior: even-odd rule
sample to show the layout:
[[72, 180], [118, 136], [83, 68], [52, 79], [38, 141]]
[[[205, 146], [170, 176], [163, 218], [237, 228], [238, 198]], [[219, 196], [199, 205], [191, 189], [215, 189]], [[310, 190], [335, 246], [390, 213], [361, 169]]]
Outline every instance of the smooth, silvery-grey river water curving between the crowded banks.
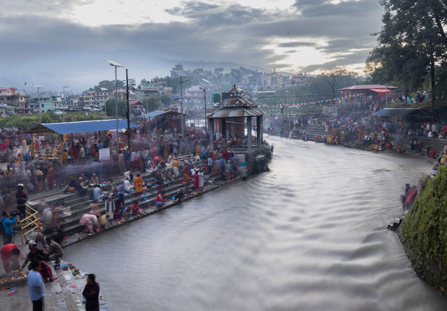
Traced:
[[112, 310], [447, 310], [397, 235], [430, 164], [268, 137], [271, 172], [65, 249]]

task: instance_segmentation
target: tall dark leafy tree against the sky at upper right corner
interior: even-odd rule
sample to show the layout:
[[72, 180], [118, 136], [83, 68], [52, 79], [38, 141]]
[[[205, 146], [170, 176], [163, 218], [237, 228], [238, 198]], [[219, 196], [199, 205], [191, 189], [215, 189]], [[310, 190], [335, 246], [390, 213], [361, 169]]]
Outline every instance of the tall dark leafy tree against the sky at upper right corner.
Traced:
[[383, 27], [375, 34], [378, 46], [367, 59], [373, 69], [370, 77], [385, 70], [385, 78], [402, 81], [409, 92], [430, 76], [432, 103], [436, 102], [435, 67], [446, 64], [446, 1], [381, 0], [381, 5], [385, 9]]

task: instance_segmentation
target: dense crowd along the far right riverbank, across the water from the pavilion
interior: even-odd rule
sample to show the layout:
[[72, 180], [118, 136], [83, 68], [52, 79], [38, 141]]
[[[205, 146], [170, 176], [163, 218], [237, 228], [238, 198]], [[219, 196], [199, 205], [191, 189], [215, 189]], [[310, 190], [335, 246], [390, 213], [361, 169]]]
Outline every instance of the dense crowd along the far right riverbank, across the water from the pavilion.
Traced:
[[[404, 122], [402, 118], [371, 116], [383, 109], [383, 103], [373, 99], [332, 108], [323, 109], [321, 113], [270, 117], [267, 128], [270, 134], [283, 137], [349, 144], [374, 151], [414, 152], [433, 159], [437, 158], [439, 150], [430, 139], [447, 138], [447, 124], [441, 120], [412, 123], [408, 119]], [[322, 134], [311, 137], [306, 130], [308, 127], [318, 127]]]

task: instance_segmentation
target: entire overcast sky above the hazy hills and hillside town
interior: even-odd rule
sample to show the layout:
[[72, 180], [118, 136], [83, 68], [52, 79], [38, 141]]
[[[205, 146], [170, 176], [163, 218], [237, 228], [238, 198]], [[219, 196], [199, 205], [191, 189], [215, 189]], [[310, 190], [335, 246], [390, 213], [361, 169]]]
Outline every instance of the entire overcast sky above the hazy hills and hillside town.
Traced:
[[[381, 30], [378, 0], [1, 0], [0, 86], [83, 90], [114, 78], [166, 76], [233, 62], [362, 74]], [[186, 65], [187, 64], [187, 65]], [[118, 79], [124, 79], [123, 71]], [[27, 83], [27, 85], [24, 85]]]

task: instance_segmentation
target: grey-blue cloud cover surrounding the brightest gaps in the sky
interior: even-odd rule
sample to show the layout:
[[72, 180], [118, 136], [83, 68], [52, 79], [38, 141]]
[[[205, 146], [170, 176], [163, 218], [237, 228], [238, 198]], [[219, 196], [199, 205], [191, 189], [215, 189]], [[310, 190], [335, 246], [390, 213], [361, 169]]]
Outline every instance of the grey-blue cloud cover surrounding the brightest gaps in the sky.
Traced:
[[[339, 4], [297, 0], [292, 11], [253, 8], [233, 2], [185, 1], [164, 10], [184, 21], [99, 27], [66, 18], [69, 13], [64, 6], [68, 10], [75, 8], [76, 1], [3, 1], [7, 5], [0, 13], [0, 40], [8, 44], [2, 46], [0, 65], [10, 71], [5, 73], [2, 69], [0, 85], [4, 85], [5, 77], [25, 77], [30, 74], [29, 68], [34, 68], [55, 81], [66, 77], [74, 80], [78, 76], [86, 87], [91, 86], [87, 84], [89, 77], [100, 81], [104, 79], [101, 74], [108, 74], [108, 67], [102, 69], [101, 62], [120, 50], [129, 53], [127, 56], [126, 53], [112, 54], [124, 58], [115, 61], [141, 68], [144, 64], [134, 63], [133, 59], [146, 60], [151, 66], [152, 60], [162, 58], [236, 62], [266, 69], [294, 67], [311, 72], [310, 66], [321, 67], [325, 62], [304, 67], [298, 61], [291, 63], [289, 56], [300, 49], [313, 48], [315, 53], [335, 59], [337, 64], [364, 62], [368, 51], [359, 49], [374, 46], [375, 39], [369, 34], [381, 27], [381, 6], [376, 0]], [[92, 1], [78, 1], [76, 7], [87, 6]], [[17, 9], [16, 4], [23, 9]], [[351, 14], [349, 19], [348, 14]], [[361, 57], [364, 57], [362, 61]], [[29, 65], [28, 69], [23, 67], [24, 63]], [[165, 74], [169, 74], [169, 69], [166, 68]], [[146, 74], [142, 70], [138, 72], [141, 76], [136, 78], [151, 78], [150, 70]]]

